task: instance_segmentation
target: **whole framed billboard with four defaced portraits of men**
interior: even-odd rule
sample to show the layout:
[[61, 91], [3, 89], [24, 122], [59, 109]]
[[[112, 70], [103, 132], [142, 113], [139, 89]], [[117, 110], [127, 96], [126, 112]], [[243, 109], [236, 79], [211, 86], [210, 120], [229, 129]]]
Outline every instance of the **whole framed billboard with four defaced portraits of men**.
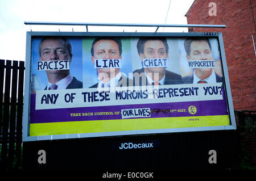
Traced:
[[221, 33], [27, 32], [23, 141], [236, 129]]

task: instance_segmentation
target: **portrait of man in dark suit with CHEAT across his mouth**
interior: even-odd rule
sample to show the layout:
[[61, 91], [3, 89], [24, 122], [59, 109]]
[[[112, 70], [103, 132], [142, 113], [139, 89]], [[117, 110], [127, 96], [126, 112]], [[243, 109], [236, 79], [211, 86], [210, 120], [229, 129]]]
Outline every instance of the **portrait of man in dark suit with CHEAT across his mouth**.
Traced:
[[[141, 37], [137, 43], [137, 50], [141, 61], [145, 59], [166, 58], [168, 60], [169, 47], [166, 38]], [[135, 86], [173, 85], [181, 83], [181, 75], [166, 70], [166, 67], [144, 67], [133, 71]]]

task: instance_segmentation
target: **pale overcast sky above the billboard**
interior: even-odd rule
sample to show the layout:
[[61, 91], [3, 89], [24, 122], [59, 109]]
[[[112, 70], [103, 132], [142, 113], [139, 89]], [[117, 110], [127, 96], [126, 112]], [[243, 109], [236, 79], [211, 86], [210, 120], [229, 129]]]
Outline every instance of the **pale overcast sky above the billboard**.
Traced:
[[[187, 24], [185, 14], [193, 1], [0, 0], [0, 59], [25, 61], [27, 31], [86, 31], [85, 26], [31, 26], [24, 22]], [[88, 27], [90, 32], [155, 30], [155, 27]], [[188, 28], [159, 28], [158, 32], [188, 32]]]

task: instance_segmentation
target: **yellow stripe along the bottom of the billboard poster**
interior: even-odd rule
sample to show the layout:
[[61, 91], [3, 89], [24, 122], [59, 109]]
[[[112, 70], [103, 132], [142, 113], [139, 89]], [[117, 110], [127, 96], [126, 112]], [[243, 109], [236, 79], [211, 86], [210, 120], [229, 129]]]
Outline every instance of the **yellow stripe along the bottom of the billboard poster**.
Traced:
[[[189, 120], [189, 119], [193, 119]], [[199, 119], [196, 120], [196, 119]], [[133, 131], [144, 129], [214, 127], [229, 124], [229, 116], [158, 117], [145, 119], [69, 121], [30, 124], [30, 136]]]

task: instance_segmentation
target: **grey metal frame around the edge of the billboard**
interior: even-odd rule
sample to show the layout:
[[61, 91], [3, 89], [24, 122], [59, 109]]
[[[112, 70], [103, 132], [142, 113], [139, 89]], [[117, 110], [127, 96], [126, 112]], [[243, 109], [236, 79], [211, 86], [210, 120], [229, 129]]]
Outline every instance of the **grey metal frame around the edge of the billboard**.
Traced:
[[[228, 126], [214, 126], [214, 127], [194, 127], [194, 128], [166, 128], [166, 129], [147, 129], [137, 131], [117, 131], [117, 132], [100, 132], [100, 133], [77, 133], [77, 134], [59, 134], [49, 136], [29, 136], [30, 126], [30, 94], [31, 94], [31, 47], [33, 36], [119, 36], [119, 37], [142, 37], [142, 36], [164, 36], [164, 37], [188, 37], [188, 36], [204, 36], [204, 37], [217, 37], [221, 60], [222, 70], [224, 74], [224, 83], [226, 87], [225, 96], [227, 100], [228, 113], [230, 125]], [[224, 42], [222, 33], [137, 33], [137, 32], [27, 32], [26, 44], [26, 74], [24, 86], [24, 108], [23, 108], [23, 141], [40, 141], [40, 140], [59, 140], [69, 138], [86, 138], [86, 137], [106, 137], [106, 136], [124, 136], [132, 134], [155, 134], [155, 133], [176, 133], [176, 132], [195, 132], [195, 131], [221, 131], [236, 129], [236, 119], [234, 116], [234, 108], [232, 102], [232, 95], [228, 76], [228, 66], [226, 64]]]

